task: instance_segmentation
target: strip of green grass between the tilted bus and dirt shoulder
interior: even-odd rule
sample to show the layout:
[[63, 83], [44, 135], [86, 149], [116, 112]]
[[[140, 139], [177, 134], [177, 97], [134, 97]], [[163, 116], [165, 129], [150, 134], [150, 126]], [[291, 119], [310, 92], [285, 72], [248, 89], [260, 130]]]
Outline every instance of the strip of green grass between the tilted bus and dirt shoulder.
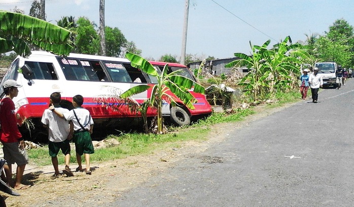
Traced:
[[[277, 94], [276, 98], [278, 101], [273, 104], [268, 104], [267, 107], [280, 107], [286, 103], [296, 102], [299, 100], [299, 96], [299, 92]], [[207, 139], [208, 134], [211, 131], [211, 126], [218, 123], [240, 121], [244, 117], [254, 113], [255, 111], [252, 108], [234, 109], [231, 113], [213, 113], [208, 118], [200, 119], [189, 127], [171, 128], [170, 132], [164, 135], [141, 133], [129, 133], [123, 134], [122, 136], [110, 135], [106, 139], [115, 139], [121, 144], [114, 147], [95, 149], [95, 153], [91, 155], [91, 161], [108, 161], [138, 154], [149, 154], [153, 153], [154, 150], [165, 149], [168, 147], [179, 148], [183, 141], [203, 141]], [[71, 155], [70, 163], [76, 163], [75, 147], [74, 149], [72, 148]], [[48, 146], [28, 150], [28, 157], [29, 161], [36, 165], [51, 165]], [[58, 154], [58, 162], [59, 164], [64, 163], [64, 155], [61, 152]]]

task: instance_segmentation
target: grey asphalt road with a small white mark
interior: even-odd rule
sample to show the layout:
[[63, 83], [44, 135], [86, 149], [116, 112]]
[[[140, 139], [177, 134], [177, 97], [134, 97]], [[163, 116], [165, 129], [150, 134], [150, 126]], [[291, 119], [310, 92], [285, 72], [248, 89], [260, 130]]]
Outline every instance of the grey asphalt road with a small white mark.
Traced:
[[110, 206], [354, 206], [353, 80], [230, 131]]

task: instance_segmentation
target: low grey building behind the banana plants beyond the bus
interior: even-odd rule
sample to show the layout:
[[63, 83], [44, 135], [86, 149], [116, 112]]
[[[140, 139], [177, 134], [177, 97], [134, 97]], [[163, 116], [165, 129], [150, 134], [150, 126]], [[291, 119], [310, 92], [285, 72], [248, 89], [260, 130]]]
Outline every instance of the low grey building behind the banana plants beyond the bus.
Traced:
[[[226, 68], [225, 65], [240, 58], [225, 58], [225, 59], [217, 59], [217, 60], [206, 60], [203, 71], [209, 72], [211, 75], [220, 76], [221, 74], [228, 74], [232, 68]], [[201, 64], [201, 61], [193, 62], [188, 64], [187, 66], [193, 71], [194, 69], [198, 69]], [[247, 72], [247, 68], [239, 68], [238, 72], [244, 73]]]

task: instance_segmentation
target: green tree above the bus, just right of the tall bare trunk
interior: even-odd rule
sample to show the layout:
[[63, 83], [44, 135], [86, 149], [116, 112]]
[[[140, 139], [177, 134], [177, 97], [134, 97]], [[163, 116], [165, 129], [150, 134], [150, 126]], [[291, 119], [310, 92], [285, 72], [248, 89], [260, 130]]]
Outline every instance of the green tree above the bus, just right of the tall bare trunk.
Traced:
[[122, 49], [126, 44], [126, 38], [117, 27], [105, 27], [105, 47], [107, 56], [120, 57]]

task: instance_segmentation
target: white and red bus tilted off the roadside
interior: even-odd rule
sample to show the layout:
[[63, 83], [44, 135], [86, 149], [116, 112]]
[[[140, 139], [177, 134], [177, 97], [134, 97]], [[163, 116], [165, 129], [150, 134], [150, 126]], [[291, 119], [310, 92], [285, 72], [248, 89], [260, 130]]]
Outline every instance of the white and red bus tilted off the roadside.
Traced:
[[[136, 117], [137, 114], [124, 103], [112, 103], [120, 105], [118, 111], [102, 106], [97, 102], [97, 97], [112, 95], [110, 87], [125, 92], [138, 84], [153, 84], [146, 73], [132, 67], [125, 58], [73, 53], [61, 57], [42, 51], [33, 51], [28, 58], [16, 58], [0, 85], [7, 79], [15, 79], [23, 85], [19, 88], [18, 96], [13, 99], [19, 125], [22, 125], [25, 119], [31, 119], [37, 128], [42, 126], [40, 119], [49, 106], [49, 96], [53, 92], [60, 92], [67, 103], [71, 103], [75, 95], [82, 95], [83, 107], [90, 111], [95, 125], [109, 128], [128, 123], [126, 118]], [[134, 82], [136, 79], [139, 81]], [[3, 92], [3, 87], [0, 92]], [[143, 103], [149, 93], [149, 90], [140, 93], [135, 95], [134, 99]], [[198, 103], [195, 104], [196, 109], [192, 115], [211, 113], [211, 106], [205, 97], [201, 97], [204, 96], [198, 96]], [[181, 108], [191, 115], [186, 107]], [[148, 110], [148, 116], [155, 115], [156, 110]], [[171, 106], [167, 103], [163, 106], [163, 115], [171, 115]]]

